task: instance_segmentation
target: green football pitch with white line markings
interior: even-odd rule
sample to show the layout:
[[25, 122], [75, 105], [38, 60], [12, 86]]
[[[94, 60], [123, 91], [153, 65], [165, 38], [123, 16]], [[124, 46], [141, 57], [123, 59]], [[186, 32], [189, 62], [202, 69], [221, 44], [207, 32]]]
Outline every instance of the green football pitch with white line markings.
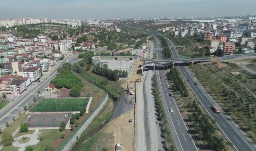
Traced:
[[65, 112], [81, 111], [89, 98], [55, 98], [43, 99], [31, 112]]

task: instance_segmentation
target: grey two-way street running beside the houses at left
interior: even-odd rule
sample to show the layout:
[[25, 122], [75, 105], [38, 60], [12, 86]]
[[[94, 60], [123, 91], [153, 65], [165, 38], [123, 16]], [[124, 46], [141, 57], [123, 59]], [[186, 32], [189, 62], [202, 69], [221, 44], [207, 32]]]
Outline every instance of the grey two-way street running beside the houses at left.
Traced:
[[50, 83], [50, 81], [56, 76], [57, 69], [61, 67], [66, 61], [73, 61], [78, 56], [78, 54], [65, 58], [62, 61], [59, 61], [53, 70], [48, 71], [45, 75], [40, 78], [40, 82], [35, 82], [35, 85], [30, 85], [29, 88], [19, 94], [18, 98], [10, 102], [5, 108], [0, 110], [0, 128], [5, 126], [5, 122], [12, 121], [12, 117], [16, 117], [19, 111], [24, 109], [24, 106], [27, 106], [33, 98], [37, 96], [38, 91], [42, 91]]

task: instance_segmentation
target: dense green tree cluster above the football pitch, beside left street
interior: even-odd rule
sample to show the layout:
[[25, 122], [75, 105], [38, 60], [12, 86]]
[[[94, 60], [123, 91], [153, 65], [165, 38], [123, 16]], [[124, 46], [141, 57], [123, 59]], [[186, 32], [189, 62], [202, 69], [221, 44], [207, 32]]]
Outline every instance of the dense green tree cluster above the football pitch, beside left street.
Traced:
[[60, 74], [56, 76], [50, 83], [55, 84], [56, 88], [65, 87], [71, 89], [70, 96], [77, 97], [81, 93], [83, 83], [82, 80], [74, 75], [70, 69], [71, 64], [65, 63], [57, 70]]

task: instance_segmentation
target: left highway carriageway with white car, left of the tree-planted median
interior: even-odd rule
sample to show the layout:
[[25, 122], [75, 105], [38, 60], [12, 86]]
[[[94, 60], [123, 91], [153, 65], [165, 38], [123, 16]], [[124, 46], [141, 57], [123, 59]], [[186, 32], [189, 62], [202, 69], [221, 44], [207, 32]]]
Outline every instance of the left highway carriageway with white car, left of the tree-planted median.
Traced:
[[[161, 48], [158, 38], [155, 37], [156, 47]], [[161, 51], [156, 51], [158, 59], [162, 58]], [[157, 65], [161, 67], [163, 65]], [[163, 77], [161, 79], [160, 77]], [[177, 107], [173, 94], [169, 96], [170, 86], [165, 78], [164, 70], [156, 70], [157, 83], [160, 91], [161, 100], [165, 109], [165, 115], [167, 118], [168, 126], [172, 132], [172, 137], [177, 148], [177, 151], [198, 151], [191, 135], [188, 133], [186, 124], [183, 121], [183, 117]], [[170, 112], [170, 108], [173, 108], [174, 112]]]

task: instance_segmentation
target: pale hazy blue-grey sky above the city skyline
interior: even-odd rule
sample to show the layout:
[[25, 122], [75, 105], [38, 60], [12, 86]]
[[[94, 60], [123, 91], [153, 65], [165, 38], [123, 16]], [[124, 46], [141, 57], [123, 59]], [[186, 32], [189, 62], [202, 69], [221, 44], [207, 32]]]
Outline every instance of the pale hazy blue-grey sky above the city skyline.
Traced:
[[256, 0], [0, 0], [0, 18], [62, 19], [256, 15]]

